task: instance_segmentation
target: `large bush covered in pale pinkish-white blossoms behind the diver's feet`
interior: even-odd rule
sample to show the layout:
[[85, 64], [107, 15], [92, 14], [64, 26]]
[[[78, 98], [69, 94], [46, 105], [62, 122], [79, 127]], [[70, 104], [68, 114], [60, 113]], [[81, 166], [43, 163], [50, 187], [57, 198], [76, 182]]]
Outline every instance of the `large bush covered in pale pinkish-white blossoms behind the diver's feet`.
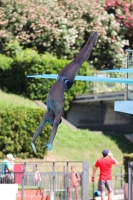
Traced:
[[1, 49], [6, 42], [17, 39], [24, 48], [72, 59], [96, 30], [99, 40], [91, 54], [91, 64], [97, 69], [123, 66], [125, 41], [120, 37], [119, 23], [93, 0], [59, 4], [2, 0], [0, 14]]

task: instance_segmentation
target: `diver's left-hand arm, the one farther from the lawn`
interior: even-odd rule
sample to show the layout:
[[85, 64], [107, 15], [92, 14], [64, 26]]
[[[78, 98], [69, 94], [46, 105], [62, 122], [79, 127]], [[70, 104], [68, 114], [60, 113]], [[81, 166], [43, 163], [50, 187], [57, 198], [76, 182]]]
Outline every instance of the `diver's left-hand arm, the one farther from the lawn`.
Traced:
[[43, 127], [45, 126], [45, 124], [47, 122], [46, 117], [47, 117], [47, 113], [43, 115], [43, 118], [42, 118], [39, 126], [37, 127], [36, 132], [34, 133], [33, 138], [32, 138], [31, 145], [32, 145], [33, 151], [35, 153], [36, 153], [35, 141], [36, 141], [37, 137], [40, 135], [40, 133], [42, 132]]

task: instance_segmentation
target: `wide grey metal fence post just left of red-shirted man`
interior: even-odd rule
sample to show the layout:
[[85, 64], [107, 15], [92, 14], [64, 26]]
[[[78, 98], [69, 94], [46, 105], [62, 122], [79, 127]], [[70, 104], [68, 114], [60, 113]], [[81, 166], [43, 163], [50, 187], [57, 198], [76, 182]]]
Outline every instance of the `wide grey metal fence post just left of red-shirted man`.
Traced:
[[89, 163], [83, 162], [83, 193], [82, 200], [89, 199]]

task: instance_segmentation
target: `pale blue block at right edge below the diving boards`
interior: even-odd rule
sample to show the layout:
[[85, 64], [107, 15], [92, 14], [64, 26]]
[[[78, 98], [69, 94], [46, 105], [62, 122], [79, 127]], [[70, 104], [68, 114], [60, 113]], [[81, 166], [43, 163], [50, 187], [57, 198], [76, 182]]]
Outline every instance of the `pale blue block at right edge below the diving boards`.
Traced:
[[114, 111], [133, 114], [133, 101], [115, 101]]

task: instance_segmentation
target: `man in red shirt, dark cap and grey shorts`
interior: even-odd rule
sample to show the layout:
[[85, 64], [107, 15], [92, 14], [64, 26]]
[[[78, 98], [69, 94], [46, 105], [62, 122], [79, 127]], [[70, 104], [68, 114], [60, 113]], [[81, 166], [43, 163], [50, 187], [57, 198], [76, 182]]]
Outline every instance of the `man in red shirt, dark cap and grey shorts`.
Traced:
[[91, 181], [94, 182], [95, 173], [100, 168], [100, 176], [98, 182], [98, 190], [101, 192], [101, 199], [105, 200], [105, 190], [108, 191], [108, 200], [113, 198], [113, 182], [112, 182], [112, 165], [119, 165], [119, 162], [114, 158], [109, 150], [103, 150], [103, 157], [95, 163]]

